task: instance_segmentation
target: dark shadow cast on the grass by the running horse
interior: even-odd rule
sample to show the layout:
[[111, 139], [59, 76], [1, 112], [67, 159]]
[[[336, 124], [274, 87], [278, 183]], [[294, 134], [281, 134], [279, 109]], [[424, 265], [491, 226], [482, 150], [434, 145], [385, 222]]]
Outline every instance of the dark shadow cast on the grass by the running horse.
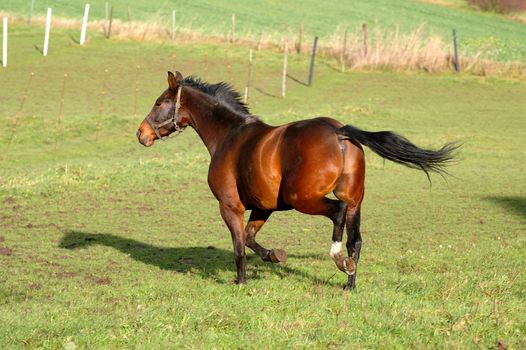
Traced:
[[[217, 283], [232, 283], [236, 274], [234, 255], [232, 251], [208, 247], [161, 247], [140, 242], [131, 238], [120, 237], [111, 233], [87, 233], [82, 231], [66, 231], [59, 243], [63, 249], [87, 249], [90, 246], [102, 245], [111, 247], [128, 255], [135, 261], [157, 266], [162, 270], [178, 273], [191, 273]], [[289, 255], [294, 259], [319, 259], [316, 254]], [[247, 279], [264, 279], [267, 273], [275, 274], [282, 279], [295, 278], [317, 285], [337, 285], [336, 282], [322, 280], [306, 271], [292, 268], [283, 264], [263, 262], [253, 254], [247, 254]], [[225, 281], [220, 272], [232, 273], [232, 279]], [[263, 275], [263, 276], [262, 276]]]

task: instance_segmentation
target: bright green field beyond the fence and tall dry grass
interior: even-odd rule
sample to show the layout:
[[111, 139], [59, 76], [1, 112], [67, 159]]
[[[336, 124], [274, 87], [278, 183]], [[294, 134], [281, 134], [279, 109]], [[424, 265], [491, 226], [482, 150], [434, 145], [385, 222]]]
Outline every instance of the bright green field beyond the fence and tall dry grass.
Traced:
[[[57, 16], [80, 19], [84, 3], [80, 0], [36, 1], [34, 15], [45, 15], [46, 8], [51, 6]], [[103, 0], [91, 2], [91, 18], [104, 18], [104, 3]], [[232, 13], [236, 14], [239, 35], [295, 33], [303, 22], [307, 37], [318, 35], [322, 41], [338, 28], [341, 32], [343, 26], [359, 31], [362, 23], [369, 24], [372, 40], [375, 29], [394, 31], [399, 27], [402, 32], [408, 32], [424, 24], [429, 33], [450, 42], [452, 29], [456, 28], [460, 50], [465, 54], [484, 50], [485, 57], [498, 61], [526, 62], [524, 24], [496, 14], [416, 0], [334, 1], [330, 6], [315, 0], [302, 1], [301, 6], [294, 1], [278, 0], [170, 0], [155, 5], [146, 0], [114, 0], [110, 3], [115, 7], [115, 18], [127, 20], [130, 5], [132, 19], [165, 23], [167, 27], [171, 26], [171, 13], [176, 9], [178, 26], [216, 35], [229, 33]], [[30, 1], [2, 0], [0, 10], [27, 16], [29, 5]]]

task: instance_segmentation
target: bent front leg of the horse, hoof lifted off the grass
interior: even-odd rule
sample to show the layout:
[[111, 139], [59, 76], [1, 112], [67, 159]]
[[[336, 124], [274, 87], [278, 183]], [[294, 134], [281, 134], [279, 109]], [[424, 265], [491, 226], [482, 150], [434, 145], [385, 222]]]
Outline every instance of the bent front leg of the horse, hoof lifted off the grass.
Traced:
[[267, 249], [256, 242], [256, 234], [263, 227], [270, 214], [272, 214], [270, 210], [252, 210], [245, 227], [247, 247], [252, 249], [263, 261], [285, 262], [287, 261], [287, 253], [284, 250]]

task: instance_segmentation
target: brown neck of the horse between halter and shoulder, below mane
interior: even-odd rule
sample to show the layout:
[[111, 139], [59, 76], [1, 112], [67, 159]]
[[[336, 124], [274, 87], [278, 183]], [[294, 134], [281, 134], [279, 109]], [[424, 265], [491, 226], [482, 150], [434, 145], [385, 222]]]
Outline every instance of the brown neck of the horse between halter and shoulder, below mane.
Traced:
[[211, 156], [232, 129], [246, 123], [243, 116], [201, 92], [191, 93], [186, 108], [190, 126], [201, 137]]

